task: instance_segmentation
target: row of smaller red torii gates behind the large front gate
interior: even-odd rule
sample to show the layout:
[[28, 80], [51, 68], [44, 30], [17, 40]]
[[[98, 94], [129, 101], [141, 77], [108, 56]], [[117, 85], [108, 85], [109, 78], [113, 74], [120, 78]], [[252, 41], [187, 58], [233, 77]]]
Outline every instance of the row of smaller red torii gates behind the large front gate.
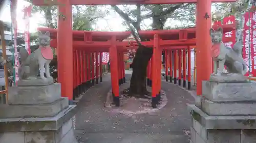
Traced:
[[[235, 29], [235, 24], [221, 25], [223, 33], [230, 32]], [[213, 28], [218, 28], [217, 26]], [[57, 30], [52, 28], [38, 28], [41, 32], [51, 33], [51, 46], [57, 48]], [[147, 67], [147, 84], [152, 86], [152, 107], [156, 107], [158, 103], [158, 96], [161, 90], [161, 53], [165, 51], [165, 66], [166, 75], [168, 75], [167, 68], [170, 68], [169, 76], [170, 81], [174, 78], [174, 82], [181, 85], [181, 72], [183, 71], [183, 82], [188, 83], [190, 89], [190, 47], [196, 45], [196, 28], [186, 28], [180, 30], [159, 30], [159, 31], [140, 31], [140, 36], [150, 39], [149, 41], [141, 42], [142, 45], [153, 47], [152, 59]], [[101, 52], [110, 53], [110, 66], [111, 66], [111, 83], [112, 92], [114, 95], [114, 103], [116, 106], [120, 105], [119, 101], [119, 85], [125, 82], [124, 76], [124, 53], [129, 52], [129, 49], [137, 49], [138, 45], [135, 41], [123, 41], [131, 35], [131, 32], [93, 32], [93, 31], [73, 31], [73, 95], [68, 95], [69, 99], [74, 99], [79, 93], [83, 92], [83, 85], [94, 84], [100, 80], [102, 81], [102, 58]], [[224, 42], [231, 41], [230, 38], [223, 39]], [[210, 47], [205, 47], [210, 48]], [[61, 51], [61, 49], [58, 49]], [[188, 53], [188, 62], [186, 63], [186, 52]], [[65, 51], [63, 51], [65, 52]], [[172, 73], [173, 62], [172, 53], [174, 56], [179, 55], [178, 62], [178, 78], [177, 66], [174, 66], [174, 73]], [[98, 58], [98, 55], [100, 58]], [[183, 56], [183, 58], [182, 58]], [[167, 58], [168, 57], [168, 58]], [[93, 61], [90, 61], [92, 59]], [[174, 60], [177, 58], [174, 57]], [[168, 61], [169, 60], [169, 61]], [[203, 60], [203, 59], [202, 59]], [[168, 61], [168, 62], [167, 62]], [[59, 61], [58, 61], [59, 62]], [[67, 61], [66, 61], [67, 62]], [[181, 69], [183, 63], [183, 69]], [[88, 68], [92, 67], [92, 68]], [[188, 79], [186, 80], [186, 67]], [[59, 66], [58, 66], [59, 68]], [[72, 68], [70, 68], [72, 70]], [[96, 70], [96, 71], [95, 71]], [[58, 70], [58, 75], [61, 74]], [[95, 75], [96, 72], [96, 75]], [[91, 74], [89, 74], [91, 73]], [[200, 76], [200, 75], [199, 75]], [[197, 78], [199, 77], [197, 76]], [[59, 77], [59, 76], [58, 76]], [[173, 77], [173, 78], [172, 78]], [[61, 79], [58, 79], [61, 83]], [[183, 83], [185, 87], [186, 84]], [[201, 88], [197, 88], [201, 91]], [[199, 92], [200, 93], [200, 92]]]

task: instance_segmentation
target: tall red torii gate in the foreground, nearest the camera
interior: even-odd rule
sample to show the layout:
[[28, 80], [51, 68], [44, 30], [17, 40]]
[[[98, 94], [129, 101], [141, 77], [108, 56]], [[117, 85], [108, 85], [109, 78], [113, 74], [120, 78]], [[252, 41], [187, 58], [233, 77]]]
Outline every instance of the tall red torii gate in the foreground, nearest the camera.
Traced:
[[[208, 80], [211, 74], [211, 56], [210, 56], [210, 35], [209, 29], [211, 27], [211, 3], [212, 2], [236, 2], [236, 0], [59, 0], [58, 3], [58, 80], [61, 83], [61, 93], [63, 96], [70, 97], [73, 94], [73, 38], [72, 38], [72, 5], [114, 5], [114, 4], [178, 4], [178, 3], [197, 3], [196, 10], [196, 45], [198, 49], [197, 54], [197, 95], [202, 94], [202, 80]], [[32, 0], [34, 5], [48, 5], [54, 3], [53, 1], [45, 0]], [[209, 15], [209, 17], [207, 16]], [[158, 37], [158, 34], [155, 34]], [[202, 40], [203, 39], [203, 40]], [[117, 57], [117, 45], [116, 36], [113, 36], [110, 40], [112, 48], [110, 53], [112, 54], [111, 69], [116, 69], [113, 72], [117, 73], [117, 62], [114, 62]], [[159, 47], [159, 41], [155, 41], [153, 59], [156, 59], [156, 55], [159, 55], [157, 50]], [[152, 60], [153, 65], [159, 60]], [[153, 70], [153, 73], [156, 71]], [[116, 84], [116, 80], [112, 78], [112, 83]], [[117, 91], [114, 91], [117, 93]], [[119, 98], [117, 99], [119, 101]], [[155, 100], [153, 98], [153, 100]]]

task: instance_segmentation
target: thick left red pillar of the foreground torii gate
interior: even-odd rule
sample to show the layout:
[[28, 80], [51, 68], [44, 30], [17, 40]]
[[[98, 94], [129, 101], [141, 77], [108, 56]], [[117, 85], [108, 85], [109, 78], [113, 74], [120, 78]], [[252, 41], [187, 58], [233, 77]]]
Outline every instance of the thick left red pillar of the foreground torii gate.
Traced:
[[70, 0], [59, 0], [58, 5], [58, 82], [61, 83], [61, 96], [73, 103], [73, 35], [72, 5]]

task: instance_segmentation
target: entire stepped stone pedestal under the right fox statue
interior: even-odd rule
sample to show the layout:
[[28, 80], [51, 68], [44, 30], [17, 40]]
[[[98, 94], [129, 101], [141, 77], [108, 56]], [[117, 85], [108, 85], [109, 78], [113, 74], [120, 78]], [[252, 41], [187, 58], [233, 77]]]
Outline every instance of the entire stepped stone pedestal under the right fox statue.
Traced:
[[243, 77], [211, 77], [202, 97], [188, 105], [192, 143], [256, 141], [256, 84]]

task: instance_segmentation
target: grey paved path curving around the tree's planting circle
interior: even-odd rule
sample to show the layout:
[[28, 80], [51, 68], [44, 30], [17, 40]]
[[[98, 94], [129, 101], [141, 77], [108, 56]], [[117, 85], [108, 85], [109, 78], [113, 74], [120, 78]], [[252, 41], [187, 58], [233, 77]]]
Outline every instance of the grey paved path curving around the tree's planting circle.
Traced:
[[[125, 76], [129, 80], [131, 72]], [[110, 88], [111, 78], [107, 74], [102, 83], [89, 89], [79, 101], [75, 116], [78, 143], [189, 142], [191, 121], [186, 104], [194, 103], [189, 92], [163, 80], [166, 105], [155, 112], [127, 116], [104, 107]]]

